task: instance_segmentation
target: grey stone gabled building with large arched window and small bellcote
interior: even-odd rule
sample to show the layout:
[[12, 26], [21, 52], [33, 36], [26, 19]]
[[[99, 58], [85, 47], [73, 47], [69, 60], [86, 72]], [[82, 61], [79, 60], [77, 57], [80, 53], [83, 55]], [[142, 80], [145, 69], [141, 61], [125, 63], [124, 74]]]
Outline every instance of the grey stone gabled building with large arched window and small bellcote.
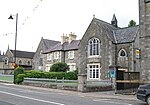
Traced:
[[124, 72], [139, 71], [135, 51], [139, 26], [119, 28], [116, 16], [111, 23], [93, 18], [79, 43], [79, 91], [90, 80], [109, 80], [109, 67], [116, 65]]

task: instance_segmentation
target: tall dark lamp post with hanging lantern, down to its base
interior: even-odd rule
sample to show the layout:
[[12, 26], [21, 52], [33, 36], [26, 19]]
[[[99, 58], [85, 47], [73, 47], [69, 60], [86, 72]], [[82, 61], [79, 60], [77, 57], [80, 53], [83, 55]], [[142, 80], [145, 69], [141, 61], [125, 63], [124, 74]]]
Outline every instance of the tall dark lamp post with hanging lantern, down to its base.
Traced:
[[[14, 51], [14, 69], [17, 67], [17, 64], [16, 64], [16, 46], [17, 46], [17, 26], [18, 26], [18, 13], [16, 13], [16, 32], [15, 32], [15, 51]], [[14, 19], [13, 18], [13, 15], [10, 15], [10, 17], [8, 19]], [[14, 84], [16, 83], [15, 82], [15, 72], [14, 72]]]

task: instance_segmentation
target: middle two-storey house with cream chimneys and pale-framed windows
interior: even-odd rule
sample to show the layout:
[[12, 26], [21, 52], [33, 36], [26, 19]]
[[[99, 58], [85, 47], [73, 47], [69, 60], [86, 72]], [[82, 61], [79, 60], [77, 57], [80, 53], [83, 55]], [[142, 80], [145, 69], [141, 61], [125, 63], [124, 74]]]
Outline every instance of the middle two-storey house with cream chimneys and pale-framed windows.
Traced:
[[51, 65], [57, 62], [65, 62], [69, 66], [69, 71], [76, 70], [79, 42], [79, 40], [76, 40], [74, 33], [70, 33], [68, 36], [61, 36], [61, 42], [44, 52], [47, 55], [45, 70], [49, 71]]

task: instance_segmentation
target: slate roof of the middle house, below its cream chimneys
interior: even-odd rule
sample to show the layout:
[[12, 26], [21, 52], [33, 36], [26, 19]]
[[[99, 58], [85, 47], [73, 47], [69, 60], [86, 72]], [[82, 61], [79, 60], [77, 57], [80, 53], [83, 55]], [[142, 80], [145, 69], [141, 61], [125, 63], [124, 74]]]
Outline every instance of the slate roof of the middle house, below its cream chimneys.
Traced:
[[48, 49], [44, 53], [49, 53], [53, 51], [68, 51], [68, 50], [77, 50], [78, 49], [78, 44], [80, 40], [73, 40], [71, 43], [65, 42], [61, 44], [60, 42], [57, 43], [55, 46], [53, 46], [51, 49]]

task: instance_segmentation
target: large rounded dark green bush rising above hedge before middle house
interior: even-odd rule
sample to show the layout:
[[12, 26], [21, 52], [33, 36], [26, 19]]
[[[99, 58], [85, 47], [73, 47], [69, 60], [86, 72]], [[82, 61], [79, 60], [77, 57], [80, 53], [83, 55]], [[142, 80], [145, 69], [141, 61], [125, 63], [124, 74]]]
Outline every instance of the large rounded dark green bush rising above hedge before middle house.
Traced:
[[68, 65], [64, 62], [58, 62], [51, 66], [50, 72], [66, 72]]

